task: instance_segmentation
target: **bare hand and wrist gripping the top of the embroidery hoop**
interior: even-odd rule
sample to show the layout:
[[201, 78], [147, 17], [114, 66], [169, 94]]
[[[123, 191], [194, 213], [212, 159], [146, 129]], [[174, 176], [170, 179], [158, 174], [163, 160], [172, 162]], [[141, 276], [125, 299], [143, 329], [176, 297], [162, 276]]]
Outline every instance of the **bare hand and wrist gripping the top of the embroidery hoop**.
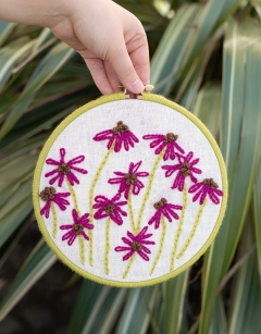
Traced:
[[[144, 27], [136, 16], [115, 2], [1, 2], [0, 12], [4, 13], [5, 5], [8, 21], [47, 26], [59, 39], [74, 48], [84, 58], [102, 94], [119, 91], [120, 85], [138, 94], [144, 90], [144, 85], [150, 83], [149, 51]], [[14, 8], [16, 10], [13, 13]]]

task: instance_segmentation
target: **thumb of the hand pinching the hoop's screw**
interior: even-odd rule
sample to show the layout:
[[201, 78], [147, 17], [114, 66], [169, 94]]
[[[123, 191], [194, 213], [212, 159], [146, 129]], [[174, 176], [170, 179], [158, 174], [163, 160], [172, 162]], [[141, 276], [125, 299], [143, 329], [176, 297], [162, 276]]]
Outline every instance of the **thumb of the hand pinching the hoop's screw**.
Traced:
[[144, 84], [134, 69], [126, 46], [119, 51], [113, 50], [109, 62], [115, 71], [121, 84], [129, 91], [139, 94], [144, 91]]

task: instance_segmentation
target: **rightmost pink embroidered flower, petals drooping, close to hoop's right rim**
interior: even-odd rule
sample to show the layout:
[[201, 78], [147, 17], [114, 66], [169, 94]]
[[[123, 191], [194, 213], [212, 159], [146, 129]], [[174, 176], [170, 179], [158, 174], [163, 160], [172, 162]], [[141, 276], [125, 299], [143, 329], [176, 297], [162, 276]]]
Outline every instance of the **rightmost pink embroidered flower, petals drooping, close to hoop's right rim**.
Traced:
[[220, 203], [220, 198], [217, 196], [223, 196], [223, 191], [217, 189], [219, 185], [213, 181], [213, 178], [204, 178], [202, 182], [196, 183], [192, 185], [188, 193], [196, 193], [192, 198], [192, 201], [196, 201], [199, 197], [199, 203], [202, 205], [207, 195], [212, 200], [214, 205]]

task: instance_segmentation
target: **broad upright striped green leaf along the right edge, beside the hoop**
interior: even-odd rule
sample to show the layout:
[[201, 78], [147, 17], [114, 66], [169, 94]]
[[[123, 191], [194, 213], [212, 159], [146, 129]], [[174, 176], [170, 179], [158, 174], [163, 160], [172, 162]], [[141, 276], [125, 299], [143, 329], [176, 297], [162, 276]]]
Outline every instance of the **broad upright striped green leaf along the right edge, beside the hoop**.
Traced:
[[[228, 172], [226, 215], [204, 261], [199, 334], [208, 333], [216, 287], [234, 257], [250, 206], [260, 152], [260, 26], [252, 20], [226, 27], [223, 69], [222, 152]], [[254, 42], [253, 42], [254, 41]], [[246, 65], [247, 62], [247, 65]]]

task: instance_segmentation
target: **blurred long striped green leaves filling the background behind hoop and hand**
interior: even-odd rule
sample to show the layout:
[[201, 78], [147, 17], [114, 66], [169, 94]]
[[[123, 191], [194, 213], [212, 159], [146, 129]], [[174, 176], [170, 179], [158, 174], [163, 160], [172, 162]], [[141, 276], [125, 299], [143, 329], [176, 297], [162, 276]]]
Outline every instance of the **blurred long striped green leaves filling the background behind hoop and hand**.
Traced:
[[[220, 143], [229, 199], [204, 257], [166, 283], [117, 289], [72, 274], [69, 286], [82, 287], [67, 333], [261, 333], [261, 1], [116, 2], [147, 30], [156, 92], [191, 110]], [[0, 22], [0, 265], [33, 220], [45, 140], [98, 96], [79, 55], [49, 29]], [[55, 261], [41, 239], [9, 285], [0, 319]]]

